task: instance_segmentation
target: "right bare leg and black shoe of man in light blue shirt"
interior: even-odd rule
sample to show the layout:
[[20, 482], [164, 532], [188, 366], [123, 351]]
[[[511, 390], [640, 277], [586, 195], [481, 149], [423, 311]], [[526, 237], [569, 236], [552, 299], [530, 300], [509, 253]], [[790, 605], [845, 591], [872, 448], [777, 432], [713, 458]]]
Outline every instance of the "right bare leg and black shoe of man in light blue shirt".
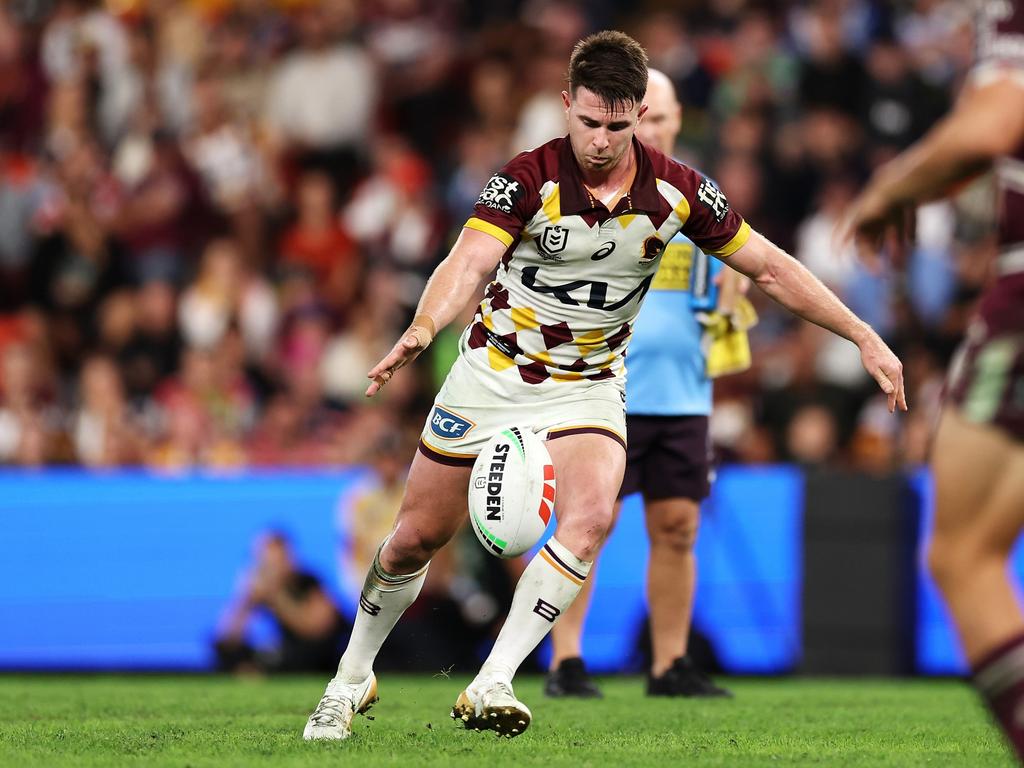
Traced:
[[696, 587], [696, 544], [700, 508], [692, 499], [644, 502], [650, 559], [647, 605], [650, 611], [651, 666], [647, 694], [727, 696], [686, 653]]

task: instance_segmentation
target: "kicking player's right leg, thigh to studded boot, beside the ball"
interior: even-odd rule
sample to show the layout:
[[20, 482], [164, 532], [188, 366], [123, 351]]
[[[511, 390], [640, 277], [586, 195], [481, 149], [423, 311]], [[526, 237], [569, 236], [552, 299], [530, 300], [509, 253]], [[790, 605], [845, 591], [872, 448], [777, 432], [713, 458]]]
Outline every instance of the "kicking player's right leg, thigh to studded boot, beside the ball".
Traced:
[[512, 678], [580, 593], [611, 526], [626, 463], [622, 445], [600, 434], [560, 437], [548, 451], [558, 480], [558, 527], [523, 571], [495, 647], [452, 711], [467, 727], [507, 736], [530, 722]]

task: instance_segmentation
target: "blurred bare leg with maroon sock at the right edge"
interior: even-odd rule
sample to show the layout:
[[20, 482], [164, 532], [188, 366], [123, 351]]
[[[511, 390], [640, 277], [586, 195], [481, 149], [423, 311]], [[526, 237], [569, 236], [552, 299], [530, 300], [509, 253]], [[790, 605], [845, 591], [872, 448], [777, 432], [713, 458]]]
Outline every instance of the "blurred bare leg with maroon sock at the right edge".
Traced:
[[932, 467], [929, 567], [953, 614], [973, 682], [1024, 759], [1024, 614], [1008, 568], [1024, 526], [1024, 445], [947, 409]]

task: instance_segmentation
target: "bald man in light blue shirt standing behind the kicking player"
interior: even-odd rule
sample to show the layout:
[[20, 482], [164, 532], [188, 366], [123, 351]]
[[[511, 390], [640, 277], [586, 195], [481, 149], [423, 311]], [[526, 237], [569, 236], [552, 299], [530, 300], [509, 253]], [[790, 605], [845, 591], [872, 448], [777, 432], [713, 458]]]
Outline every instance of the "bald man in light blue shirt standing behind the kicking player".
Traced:
[[[682, 109], [672, 81], [650, 71], [648, 110], [638, 138], [670, 154]], [[640, 492], [650, 538], [647, 602], [651, 667], [648, 695], [727, 696], [686, 654], [693, 607], [693, 545], [700, 501], [710, 490], [708, 419], [712, 381], [706, 373], [701, 313], [722, 310], [739, 275], [677, 234], [666, 247], [636, 319], [627, 356], [627, 466], [622, 499]], [[719, 303], [718, 297], [722, 297]], [[617, 516], [618, 508], [616, 508]], [[587, 675], [581, 638], [588, 587], [552, 631], [549, 696], [599, 697]]]

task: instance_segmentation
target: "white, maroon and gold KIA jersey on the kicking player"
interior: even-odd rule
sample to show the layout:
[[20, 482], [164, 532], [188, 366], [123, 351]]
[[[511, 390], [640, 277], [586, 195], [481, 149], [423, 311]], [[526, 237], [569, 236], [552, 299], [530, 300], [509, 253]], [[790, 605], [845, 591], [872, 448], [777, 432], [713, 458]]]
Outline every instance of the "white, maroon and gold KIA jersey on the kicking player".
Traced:
[[632, 151], [636, 177], [612, 211], [584, 185], [567, 137], [492, 176], [466, 227], [508, 250], [463, 336], [466, 353], [528, 384], [622, 376], [666, 244], [682, 231], [724, 258], [746, 242], [750, 226], [714, 182], [636, 138]]

